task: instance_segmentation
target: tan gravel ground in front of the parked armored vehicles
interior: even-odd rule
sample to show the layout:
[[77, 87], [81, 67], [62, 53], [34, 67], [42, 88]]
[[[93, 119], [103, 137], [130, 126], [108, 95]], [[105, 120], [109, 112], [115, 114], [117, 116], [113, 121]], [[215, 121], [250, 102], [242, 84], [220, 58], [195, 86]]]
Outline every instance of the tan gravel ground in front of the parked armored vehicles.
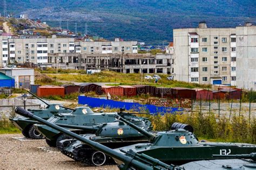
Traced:
[[45, 140], [20, 141], [12, 137], [22, 134], [0, 134], [1, 169], [118, 169], [117, 166], [89, 167], [60, 152], [39, 149], [48, 146]]

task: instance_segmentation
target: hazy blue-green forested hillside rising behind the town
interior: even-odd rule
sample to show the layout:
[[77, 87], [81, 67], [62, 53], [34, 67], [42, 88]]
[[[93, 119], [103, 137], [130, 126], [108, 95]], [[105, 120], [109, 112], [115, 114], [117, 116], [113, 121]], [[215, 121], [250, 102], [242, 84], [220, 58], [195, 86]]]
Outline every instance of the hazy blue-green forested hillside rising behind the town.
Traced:
[[[8, 12], [26, 13], [50, 26], [59, 26], [113, 39], [146, 41], [161, 44], [172, 40], [172, 29], [196, 27], [205, 20], [210, 27], [235, 27], [244, 22], [256, 23], [255, 0], [11, 0]], [[0, 6], [2, 11], [3, 6]], [[234, 12], [235, 11], [235, 12]]]

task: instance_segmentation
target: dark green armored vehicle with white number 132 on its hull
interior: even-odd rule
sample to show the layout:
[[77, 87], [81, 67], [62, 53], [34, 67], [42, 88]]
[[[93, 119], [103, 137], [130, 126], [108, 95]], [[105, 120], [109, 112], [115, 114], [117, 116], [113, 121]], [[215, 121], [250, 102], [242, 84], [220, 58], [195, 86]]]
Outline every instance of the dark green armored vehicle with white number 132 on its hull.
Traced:
[[[256, 152], [256, 145], [252, 144], [200, 143], [192, 132], [188, 132], [184, 129], [175, 129], [152, 134], [126, 121], [120, 116], [116, 117], [144, 134], [150, 140], [150, 143], [134, 144], [117, 148], [116, 151], [120, 153], [132, 150], [138, 154], [144, 153], [168, 164], [173, 163], [181, 165], [190, 161], [213, 159], [213, 154], [228, 155]], [[215, 157], [214, 159], [223, 159], [223, 157]]]

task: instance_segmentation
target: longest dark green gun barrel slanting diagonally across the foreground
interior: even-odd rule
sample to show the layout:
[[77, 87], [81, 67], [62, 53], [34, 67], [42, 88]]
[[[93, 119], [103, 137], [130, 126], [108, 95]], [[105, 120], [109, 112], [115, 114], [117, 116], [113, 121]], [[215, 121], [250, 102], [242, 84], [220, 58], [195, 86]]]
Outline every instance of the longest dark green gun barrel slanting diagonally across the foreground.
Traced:
[[[17, 107], [15, 109], [15, 112], [19, 115], [22, 115], [24, 117], [28, 117], [28, 118], [32, 118], [32, 119], [35, 119], [36, 121], [38, 122], [41, 122], [42, 124], [45, 124], [45, 125], [48, 125], [50, 128], [52, 129], [55, 129], [57, 131], [60, 131], [64, 134], [67, 134], [68, 136], [72, 137], [72, 138], [75, 138], [77, 140], [80, 140], [82, 141], [83, 143], [95, 148], [96, 150], [98, 151], [101, 151], [101, 152], [104, 152], [105, 154], [109, 155], [110, 157], [114, 158], [114, 159], [117, 159], [117, 160], [120, 160], [122, 162], [124, 162], [124, 164], [122, 164], [121, 166], [119, 166], [120, 169], [127, 169], [129, 168], [130, 166], [134, 167], [134, 168], [137, 168], [137, 169], [155, 169], [155, 167], [152, 167], [151, 165], [148, 165], [148, 164], [145, 164], [139, 160], [136, 160], [132, 157], [129, 157], [128, 155], [125, 155], [125, 154], [122, 154], [122, 153], [119, 153], [117, 151], [114, 151], [112, 150], [111, 148], [109, 147], [106, 147], [102, 144], [99, 144], [95, 141], [92, 141], [92, 140], [89, 140], [89, 139], [86, 139], [82, 136], [79, 136], [78, 134], [76, 133], [73, 133], [69, 130], [66, 130], [56, 124], [53, 124], [53, 123], [50, 123], [48, 121], [45, 121], [44, 119], [38, 117], [38, 116], [35, 116], [33, 115], [31, 112], [21, 108], [21, 107]], [[163, 169], [164, 167], [160, 168], [160, 169]], [[174, 168], [174, 167], [173, 167]]]

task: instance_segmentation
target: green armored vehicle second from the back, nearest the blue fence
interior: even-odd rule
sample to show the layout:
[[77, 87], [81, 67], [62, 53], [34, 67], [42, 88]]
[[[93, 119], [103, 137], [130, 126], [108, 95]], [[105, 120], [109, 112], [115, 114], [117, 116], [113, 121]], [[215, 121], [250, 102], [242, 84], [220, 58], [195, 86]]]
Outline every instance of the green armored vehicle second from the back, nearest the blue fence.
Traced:
[[[110, 123], [116, 121], [115, 115], [120, 115], [125, 119], [134, 118], [136, 116], [128, 114], [121, 109], [120, 112], [110, 112], [110, 113], [95, 113], [89, 107], [77, 107], [74, 111], [68, 114], [57, 114], [48, 119], [51, 123], [58, 124], [68, 124], [68, 125], [79, 125], [79, 126], [95, 126], [101, 123]], [[138, 117], [136, 117], [138, 118]], [[151, 122], [146, 118], [139, 118], [145, 122], [145, 124], [150, 127]], [[59, 141], [69, 138], [61, 132], [49, 128], [46, 125], [36, 124], [34, 125], [36, 130], [40, 132], [45, 138], [46, 143], [49, 146], [56, 146]], [[71, 131], [78, 134], [92, 133], [91, 130], [79, 130], [79, 129], [70, 129]]]

